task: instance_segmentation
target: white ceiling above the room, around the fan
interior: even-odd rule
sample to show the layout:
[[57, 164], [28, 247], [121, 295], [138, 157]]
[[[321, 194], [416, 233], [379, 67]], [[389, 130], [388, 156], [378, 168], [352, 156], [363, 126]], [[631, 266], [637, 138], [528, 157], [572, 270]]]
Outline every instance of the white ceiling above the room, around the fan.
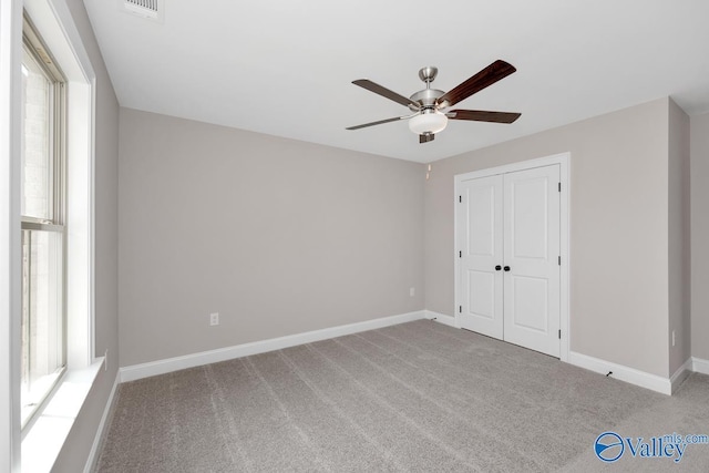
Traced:
[[[84, 0], [122, 106], [431, 162], [671, 96], [709, 112], [707, 0], [164, 0], [164, 21]], [[401, 95], [439, 68], [448, 91], [496, 59], [517, 72], [455, 107], [521, 112], [451, 121], [419, 144]]]

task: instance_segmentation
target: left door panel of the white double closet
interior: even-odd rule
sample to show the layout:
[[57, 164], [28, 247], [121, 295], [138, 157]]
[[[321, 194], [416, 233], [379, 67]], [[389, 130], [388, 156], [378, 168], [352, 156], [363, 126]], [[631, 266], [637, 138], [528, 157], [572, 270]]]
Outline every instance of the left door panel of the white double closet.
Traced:
[[462, 328], [503, 338], [503, 177], [462, 183], [456, 205], [460, 258], [459, 321]]

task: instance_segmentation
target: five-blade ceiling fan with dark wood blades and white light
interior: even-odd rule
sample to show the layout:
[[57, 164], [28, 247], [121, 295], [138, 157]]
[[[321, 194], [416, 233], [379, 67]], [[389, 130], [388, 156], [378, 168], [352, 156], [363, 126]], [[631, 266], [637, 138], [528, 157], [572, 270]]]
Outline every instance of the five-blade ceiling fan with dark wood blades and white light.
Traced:
[[443, 92], [436, 89], [431, 89], [431, 82], [435, 79], [439, 70], [434, 66], [423, 68], [419, 71], [419, 79], [425, 82], [425, 89], [414, 93], [409, 99], [368, 79], [352, 81], [354, 85], [359, 85], [362, 89], [367, 89], [370, 92], [374, 92], [376, 94], [405, 105], [414, 113], [411, 115], [395, 116], [393, 119], [364, 123], [362, 125], [349, 126], [347, 130], [359, 130], [368, 126], [381, 125], [382, 123], [409, 120], [409, 130], [419, 135], [419, 143], [428, 143], [433, 141], [436, 133], [445, 128], [449, 119], [467, 120], [473, 122], [512, 123], [520, 117], [521, 113], [487, 112], [483, 110], [445, 111], [445, 109], [455, 105], [458, 102], [467, 99], [472, 94], [482, 91], [486, 86], [494, 84], [515, 71], [516, 69], [512, 64], [497, 60], [456, 88], [448, 92]]

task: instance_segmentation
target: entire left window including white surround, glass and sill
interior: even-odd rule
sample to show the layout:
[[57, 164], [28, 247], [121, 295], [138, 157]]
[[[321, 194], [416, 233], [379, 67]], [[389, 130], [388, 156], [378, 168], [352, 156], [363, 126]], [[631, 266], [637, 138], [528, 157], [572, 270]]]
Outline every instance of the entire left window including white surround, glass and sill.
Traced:
[[22, 413], [0, 415], [0, 471], [51, 471], [107, 361], [94, 346], [97, 79], [66, 0], [1, 0], [0, 17], [0, 408]]

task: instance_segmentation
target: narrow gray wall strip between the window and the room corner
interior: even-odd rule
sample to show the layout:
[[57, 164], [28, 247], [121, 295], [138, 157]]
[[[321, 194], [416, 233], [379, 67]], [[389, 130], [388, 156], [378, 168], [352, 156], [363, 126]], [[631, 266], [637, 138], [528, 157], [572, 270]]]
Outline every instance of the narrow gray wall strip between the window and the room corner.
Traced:
[[117, 374], [117, 160], [119, 104], [81, 0], [66, 0], [96, 74], [95, 121], [95, 350], [109, 349], [101, 371], [56, 460], [56, 472], [80, 472]]

